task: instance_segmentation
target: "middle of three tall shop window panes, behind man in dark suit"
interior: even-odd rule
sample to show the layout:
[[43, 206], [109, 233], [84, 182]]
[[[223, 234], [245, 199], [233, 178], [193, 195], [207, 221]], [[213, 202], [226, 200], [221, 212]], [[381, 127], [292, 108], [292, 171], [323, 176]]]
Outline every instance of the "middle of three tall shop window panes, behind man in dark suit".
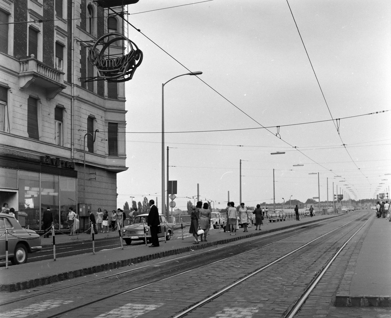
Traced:
[[59, 228], [59, 196], [60, 176], [41, 173], [41, 213], [50, 207], [54, 226]]

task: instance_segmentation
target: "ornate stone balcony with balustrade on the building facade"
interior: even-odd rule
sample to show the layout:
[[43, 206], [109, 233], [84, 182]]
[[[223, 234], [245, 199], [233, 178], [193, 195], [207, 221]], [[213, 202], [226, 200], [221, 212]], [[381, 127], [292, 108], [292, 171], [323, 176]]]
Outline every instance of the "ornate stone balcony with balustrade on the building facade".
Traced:
[[19, 86], [24, 89], [34, 83], [34, 85], [46, 89], [47, 99], [53, 99], [66, 88], [64, 73], [43, 64], [33, 54], [31, 55], [32, 57], [19, 61]]

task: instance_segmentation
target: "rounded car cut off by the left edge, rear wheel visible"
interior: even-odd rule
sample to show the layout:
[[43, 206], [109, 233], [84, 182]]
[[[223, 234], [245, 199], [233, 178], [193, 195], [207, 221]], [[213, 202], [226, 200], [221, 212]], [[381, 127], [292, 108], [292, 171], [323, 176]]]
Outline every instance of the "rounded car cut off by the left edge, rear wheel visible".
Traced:
[[[34, 231], [22, 228], [14, 216], [0, 213], [0, 235], [5, 233], [7, 225], [8, 257], [13, 265], [27, 262], [28, 253], [42, 249], [41, 238]], [[14, 236], [13, 236], [14, 235]], [[0, 259], [5, 259], [5, 235], [0, 236]]]

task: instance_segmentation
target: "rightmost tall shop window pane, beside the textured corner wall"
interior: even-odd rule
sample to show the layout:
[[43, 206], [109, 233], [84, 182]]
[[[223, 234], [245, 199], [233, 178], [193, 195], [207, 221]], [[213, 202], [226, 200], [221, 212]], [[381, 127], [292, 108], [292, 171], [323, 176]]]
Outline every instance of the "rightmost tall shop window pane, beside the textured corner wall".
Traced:
[[76, 180], [60, 176], [60, 205], [61, 205], [61, 228], [68, 227], [68, 208], [76, 209]]

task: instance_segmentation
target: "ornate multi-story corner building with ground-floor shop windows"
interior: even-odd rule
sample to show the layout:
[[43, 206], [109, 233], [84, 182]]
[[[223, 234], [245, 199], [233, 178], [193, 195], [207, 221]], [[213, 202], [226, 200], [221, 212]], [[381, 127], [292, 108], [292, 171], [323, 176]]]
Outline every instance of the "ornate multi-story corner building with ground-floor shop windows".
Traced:
[[86, 78], [97, 76], [89, 47], [123, 34], [122, 19], [92, 0], [0, 0], [0, 23], [1, 206], [36, 230], [47, 206], [60, 229], [78, 203], [115, 209], [127, 169], [125, 85]]

